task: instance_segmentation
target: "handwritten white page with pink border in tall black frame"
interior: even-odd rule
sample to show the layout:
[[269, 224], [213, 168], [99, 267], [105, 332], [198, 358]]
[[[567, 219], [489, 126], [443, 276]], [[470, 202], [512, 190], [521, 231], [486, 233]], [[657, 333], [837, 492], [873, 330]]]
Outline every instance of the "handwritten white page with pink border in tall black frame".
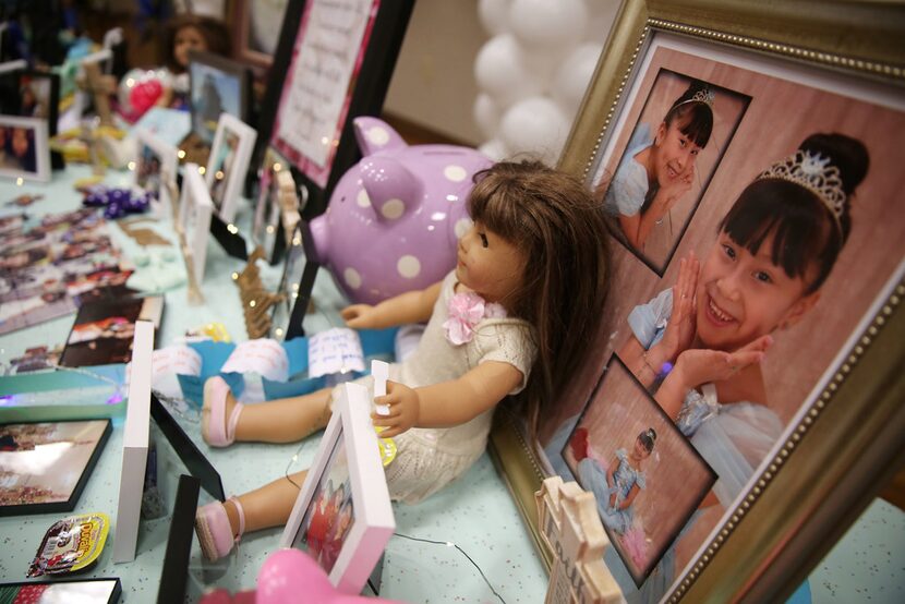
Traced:
[[280, 102], [277, 138], [321, 168], [338, 143], [374, 0], [309, 2]]

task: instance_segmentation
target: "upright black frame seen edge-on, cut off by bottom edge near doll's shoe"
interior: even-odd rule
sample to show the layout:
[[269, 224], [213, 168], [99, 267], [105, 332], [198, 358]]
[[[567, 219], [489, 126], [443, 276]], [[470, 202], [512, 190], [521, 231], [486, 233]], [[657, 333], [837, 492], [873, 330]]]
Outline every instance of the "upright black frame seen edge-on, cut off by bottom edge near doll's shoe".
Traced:
[[[153, 395], [152, 400], [156, 400]], [[152, 403], [153, 411], [154, 404]], [[188, 474], [179, 476], [176, 503], [170, 517], [170, 532], [167, 536], [167, 551], [164, 554], [164, 565], [160, 570], [160, 588], [157, 590], [157, 602], [185, 601], [200, 487], [198, 479]]]

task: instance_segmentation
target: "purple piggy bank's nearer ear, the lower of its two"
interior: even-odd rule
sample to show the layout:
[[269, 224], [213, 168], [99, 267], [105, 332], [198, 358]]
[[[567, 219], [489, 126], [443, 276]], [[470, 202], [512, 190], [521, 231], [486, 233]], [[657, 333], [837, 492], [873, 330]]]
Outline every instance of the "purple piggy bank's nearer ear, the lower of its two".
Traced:
[[385, 155], [365, 157], [360, 169], [361, 184], [377, 220], [386, 222], [401, 218], [420, 203], [424, 185], [397, 159]]

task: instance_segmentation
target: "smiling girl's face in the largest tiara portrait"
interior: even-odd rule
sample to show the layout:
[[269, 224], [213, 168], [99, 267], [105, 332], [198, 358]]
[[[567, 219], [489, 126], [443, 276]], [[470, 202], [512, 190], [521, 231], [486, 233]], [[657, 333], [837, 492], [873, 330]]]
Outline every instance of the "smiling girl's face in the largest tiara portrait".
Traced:
[[[708, 348], [736, 350], [796, 323], [819, 298], [771, 258], [773, 234], [757, 255], [725, 232], [701, 266], [696, 292], [698, 338]], [[809, 282], [809, 281], [808, 281]]]

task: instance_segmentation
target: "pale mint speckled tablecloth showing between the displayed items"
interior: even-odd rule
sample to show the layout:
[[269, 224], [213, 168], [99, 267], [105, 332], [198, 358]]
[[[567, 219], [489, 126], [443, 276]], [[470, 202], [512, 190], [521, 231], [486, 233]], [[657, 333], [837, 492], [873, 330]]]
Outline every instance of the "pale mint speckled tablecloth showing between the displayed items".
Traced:
[[[65, 212], [76, 207], [81, 196], [72, 183], [88, 176], [84, 166], [71, 166], [56, 172], [46, 184], [11, 181], [0, 182], [0, 204], [22, 193], [40, 193], [44, 200], [28, 214]], [[128, 184], [131, 174], [110, 172], [108, 184]], [[251, 205], [240, 204], [242, 214], [237, 224], [248, 226]], [[0, 205], [0, 214], [11, 208]], [[114, 239], [126, 255], [134, 242]], [[248, 232], [248, 229], [245, 229]], [[246, 338], [239, 292], [230, 275], [241, 270], [243, 263], [228, 257], [210, 242], [207, 268], [203, 280], [206, 302], [188, 303], [184, 286], [166, 291], [164, 321], [156, 347], [168, 346], [189, 328], [212, 321], [222, 322], [234, 341]], [[280, 266], [262, 266], [262, 279], [275, 289]], [[318, 274], [313, 295], [317, 312], [305, 318], [309, 333], [339, 324], [338, 311], [345, 305], [342, 295], [329, 275]], [[22, 354], [26, 348], [62, 343], [72, 326], [73, 316], [60, 317], [0, 337], [0, 362]], [[0, 392], [2, 394], [2, 392]], [[210, 449], [201, 438], [196, 416], [184, 414], [180, 424], [221, 475], [227, 494], [244, 493], [261, 484], [310, 466], [319, 434], [291, 445], [241, 444], [227, 449]], [[81, 576], [119, 577], [124, 602], [152, 602], [156, 599], [169, 531], [169, 517], [142, 521], [137, 556], [134, 561], [113, 564], [111, 540], [116, 539], [116, 505], [122, 466], [122, 418], [113, 421], [113, 432], [95, 467], [84, 493], [72, 514], [105, 511], [113, 527], [97, 565]], [[166, 449], [164, 450], [166, 454]], [[172, 506], [176, 476], [185, 470], [172, 455], [164, 455], [167, 467], [167, 495]], [[202, 503], [209, 497], [202, 492]], [[487, 455], [459, 481], [415, 506], [394, 504], [397, 533], [387, 545], [381, 594], [407, 602], [541, 602], [546, 591], [546, 572], [534, 549], [516, 506]], [[0, 518], [0, 579], [4, 582], [24, 580], [28, 563], [50, 524], [68, 514], [45, 514]], [[206, 589], [224, 587], [231, 591], [253, 589], [257, 570], [279, 543], [281, 529], [261, 531], [245, 536], [238, 549], [216, 564], [203, 560], [197, 540], [193, 541], [189, 568], [189, 593], [196, 596]], [[417, 542], [399, 535], [441, 542]], [[456, 547], [470, 556], [481, 571]], [[902, 602], [905, 597], [905, 515], [883, 502], [872, 505], [849, 533], [821, 563], [811, 576], [811, 593], [816, 602]], [[486, 576], [498, 592], [481, 577]]]

